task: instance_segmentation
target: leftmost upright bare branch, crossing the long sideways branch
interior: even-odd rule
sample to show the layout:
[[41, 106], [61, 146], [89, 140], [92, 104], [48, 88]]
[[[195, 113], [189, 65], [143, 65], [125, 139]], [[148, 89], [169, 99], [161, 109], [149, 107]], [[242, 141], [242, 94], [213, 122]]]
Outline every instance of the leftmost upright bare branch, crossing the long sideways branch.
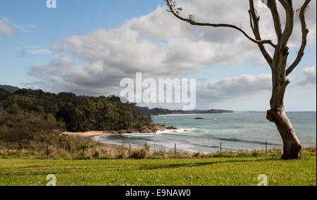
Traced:
[[[258, 12], [256, 11], [256, 8], [254, 6], [254, 0], [249, 0], [249, 4], [250, 4], [249, 15], [250, 15], [251, 29], [253, 30], [254, 36], [256, 37], [256, 39], [262, 40], [260, 25], [259, 25], [260, 16], [258, 15]], [[272, 67], [273, 57], [270, 51], [268, 51], [268, 48], [264, 44], [259, 44], [259, 48], [264, 58], [266, 59], [268, 65]]]

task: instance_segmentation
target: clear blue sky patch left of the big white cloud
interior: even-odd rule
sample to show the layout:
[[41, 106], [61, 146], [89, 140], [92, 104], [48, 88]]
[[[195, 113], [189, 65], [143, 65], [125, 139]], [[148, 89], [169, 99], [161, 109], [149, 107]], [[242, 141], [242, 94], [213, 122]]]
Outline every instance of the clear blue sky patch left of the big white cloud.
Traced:
[[163, 1], [139, 0], [94, 0], [93, 4], [85, 0], [56, 2], [57, 8], [48, 9], [46, 0], [0, 1], [0, 18], [8, 17], [15, 25], [23, 27], [14, 37], [0, 36], [0, 65], [6, 68], [6, 73], [0, 75], [0, 84], [24, 87], [23, 83], [34, 79], [27, 75], [30, 67], [51, 60], [51, 54], [22, 56], [19, 47], [49, 49], [54, 39], [99, 28], [117, 28], [125, 20], [146, 15], [163, 4]]

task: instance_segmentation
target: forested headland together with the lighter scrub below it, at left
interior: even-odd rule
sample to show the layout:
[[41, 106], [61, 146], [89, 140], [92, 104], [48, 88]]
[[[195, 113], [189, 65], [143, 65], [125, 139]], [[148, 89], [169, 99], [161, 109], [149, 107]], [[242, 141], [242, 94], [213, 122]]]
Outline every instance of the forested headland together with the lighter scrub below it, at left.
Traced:
[[117, 96], [75, 96], [32, 89], [12, 94], [0, 89], [0, 146], [6, 146], [8, 154], [15, 157], [82, 158], [98, 144], [63, 135], [65, 130], [132, 131], [153, 124], [135, 104], [123, 104]]

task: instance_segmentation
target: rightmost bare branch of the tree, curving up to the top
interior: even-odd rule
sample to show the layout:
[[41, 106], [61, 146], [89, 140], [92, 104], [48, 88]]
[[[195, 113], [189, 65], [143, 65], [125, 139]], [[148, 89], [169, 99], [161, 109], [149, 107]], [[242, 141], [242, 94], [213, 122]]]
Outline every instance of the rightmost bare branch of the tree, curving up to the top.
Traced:
[[302, 24], [302, 45], [298, 51], [297, 58], [295, 59], [294, 63], [292, 63], [292, 65], [290, 65], [290, 68], [286, 70], [286, 76], [292, 73], [294, 68], [297, 67], [297, 65], [299, 64], [300, 61], [302, 61], [302, 58], [304, 56], [304, 51], [307, 44], [307, 35], [309, 34], [309, 29], [307, 28], [307, 25], [306, 25], [305, 12], [310, 2], [311, 0], [306, 0], [299, 12], [299, 20], [301, 20], [301, 24]]

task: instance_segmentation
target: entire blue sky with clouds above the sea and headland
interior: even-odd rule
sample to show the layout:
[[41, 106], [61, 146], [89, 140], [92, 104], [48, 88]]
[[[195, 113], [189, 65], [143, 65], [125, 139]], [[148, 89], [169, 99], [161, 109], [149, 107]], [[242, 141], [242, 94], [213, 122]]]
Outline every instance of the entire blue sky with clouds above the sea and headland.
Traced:
[[[302, 2], [294, 1], [295, 7]], [[56, 3], [47, 8], [46, 0], [0, 1], [0, 85], [118, 95], [120, 80], [141, 72], [144, 78], [196, 78], [198, 109], [269, 109], [271, 69], [258, 46], [235, 30], [188, 25], [168, 13], [163, 0]], [[247, 1], [180, 0], [178, 5], [184, 16], [241, 25], [251, 35]], [[268, 8], [259, 7], [259, 14], [263, 38], [275, 41]], [[287, 111], [316, 111], [316, 1], [306, 16], [311, 32], [306, 54], [290, 75]], [[283, 13], [281, 18], [284, 22]], [[296, 18], [289, 65], [300, 44]]]

